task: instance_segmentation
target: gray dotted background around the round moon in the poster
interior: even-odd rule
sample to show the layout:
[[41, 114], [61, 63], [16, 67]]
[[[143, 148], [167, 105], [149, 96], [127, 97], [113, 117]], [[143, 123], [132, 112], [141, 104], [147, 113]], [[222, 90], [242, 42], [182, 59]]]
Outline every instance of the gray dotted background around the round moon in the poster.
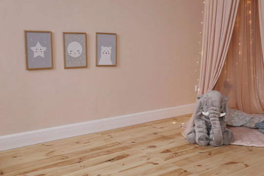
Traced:
[[[66, 67], [86, 66], [86, 46], [85, 34], [65, 34], [65, 64]], [[67, 51], [67, 47], [71, 42], [78, 42], [82, 45], [82, 53], [79, 57], [71, 57]]]

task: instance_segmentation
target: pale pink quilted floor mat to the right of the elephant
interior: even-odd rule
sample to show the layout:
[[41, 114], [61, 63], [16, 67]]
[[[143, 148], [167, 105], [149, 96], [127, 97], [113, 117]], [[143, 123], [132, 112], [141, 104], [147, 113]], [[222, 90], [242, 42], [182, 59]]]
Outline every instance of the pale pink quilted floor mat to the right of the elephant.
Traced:
[[229, 127], [234, 134], [232, 145], [264, 147], [264, 133], [247, 127]]

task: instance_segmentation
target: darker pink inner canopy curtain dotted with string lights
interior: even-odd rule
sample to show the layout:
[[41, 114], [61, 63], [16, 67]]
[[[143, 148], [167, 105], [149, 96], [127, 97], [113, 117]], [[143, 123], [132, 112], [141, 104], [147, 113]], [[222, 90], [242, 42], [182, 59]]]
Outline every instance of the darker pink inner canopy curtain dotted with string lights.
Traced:
[[264, 113], [264, 60], [257, 0], [241, 0], [226, 61], [215, 89], [231, 109]]

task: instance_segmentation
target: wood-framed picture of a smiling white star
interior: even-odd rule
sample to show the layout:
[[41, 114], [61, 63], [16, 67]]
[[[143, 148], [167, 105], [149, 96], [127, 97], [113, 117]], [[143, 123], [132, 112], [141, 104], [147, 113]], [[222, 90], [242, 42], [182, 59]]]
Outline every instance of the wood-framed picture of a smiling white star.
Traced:
[[24, 31], [27, 70], [53, 69], [50, 31]]

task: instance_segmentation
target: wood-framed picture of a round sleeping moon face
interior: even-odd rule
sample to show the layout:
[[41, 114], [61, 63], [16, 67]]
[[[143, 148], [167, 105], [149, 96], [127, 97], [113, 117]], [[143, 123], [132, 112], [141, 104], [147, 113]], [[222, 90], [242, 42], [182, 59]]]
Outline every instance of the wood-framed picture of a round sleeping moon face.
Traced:
[[87, 68], [86, 33], [63, 33], [64, 68]]

